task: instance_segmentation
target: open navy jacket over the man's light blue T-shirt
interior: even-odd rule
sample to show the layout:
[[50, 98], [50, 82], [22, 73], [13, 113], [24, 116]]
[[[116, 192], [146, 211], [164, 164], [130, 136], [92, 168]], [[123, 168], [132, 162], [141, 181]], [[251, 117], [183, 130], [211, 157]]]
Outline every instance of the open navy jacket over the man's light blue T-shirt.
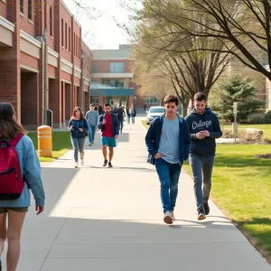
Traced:
[[[191, 145], [191, 135], [186, 120], [179, 117], [180, 128], [180, 163], [188, 159]], [[149, 127], [147, 134], [145, 135], [145, 145], [148, 150], [147, 163], [155, 164], [154, 155], [158, 153], [162, 128], [163, 128], [164, 115], [156, 117]]]

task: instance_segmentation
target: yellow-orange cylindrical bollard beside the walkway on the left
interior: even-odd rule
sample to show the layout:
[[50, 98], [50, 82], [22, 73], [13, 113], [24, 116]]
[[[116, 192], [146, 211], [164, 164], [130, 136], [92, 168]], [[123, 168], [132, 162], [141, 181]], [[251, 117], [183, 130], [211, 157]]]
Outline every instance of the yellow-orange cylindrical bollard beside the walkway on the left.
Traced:
[[38, 155], [42, 157], [51, 157], [51, 126], [38, 127]]

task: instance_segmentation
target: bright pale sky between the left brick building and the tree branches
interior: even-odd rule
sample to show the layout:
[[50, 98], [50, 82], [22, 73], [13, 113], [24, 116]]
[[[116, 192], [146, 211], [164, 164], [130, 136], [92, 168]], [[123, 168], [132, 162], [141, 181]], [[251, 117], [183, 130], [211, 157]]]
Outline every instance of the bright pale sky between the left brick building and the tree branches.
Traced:
[[[70, 11], [74, 11], [72, 0], [64, 0]], [[82, 25], [83, 33], [89, 31], [84, 38], [89, 47], [93, 49], [118, 49], [118, 44], [127, 43], [126, 32], [117, 27], [114, 17], [118, 23], [127, 23], [128, 12], [121, 6], [117, 5], [117, 0], [90, 0], [103, 14], [98, 20], [89, 20], [89, 18], [81, 17], [79, 23]]]

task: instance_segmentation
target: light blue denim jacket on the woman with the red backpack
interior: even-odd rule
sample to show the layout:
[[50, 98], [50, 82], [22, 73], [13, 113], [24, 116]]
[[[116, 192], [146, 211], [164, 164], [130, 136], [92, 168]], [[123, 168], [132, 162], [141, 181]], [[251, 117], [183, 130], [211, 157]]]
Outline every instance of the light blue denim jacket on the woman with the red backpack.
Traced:
[[31, 138], [23, 135], [21, 140], [15, 146], [18, 154], [22, 176], [24, 175], [27, 182], [24, 183], [23, 193], [19, 199], [12, 201], [0, 201], [0, 207], [16, 208], [30, 206], [30, 190], [33, 192], [33, 197], [36, 205], [44, 205], [44, 190], [42, 185], [41, 164], [37, 157]]

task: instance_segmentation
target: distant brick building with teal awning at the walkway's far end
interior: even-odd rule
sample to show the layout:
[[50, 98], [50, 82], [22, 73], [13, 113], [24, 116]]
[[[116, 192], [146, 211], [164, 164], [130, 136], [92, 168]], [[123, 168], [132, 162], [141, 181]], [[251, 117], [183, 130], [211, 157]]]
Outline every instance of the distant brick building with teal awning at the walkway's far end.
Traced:
[[92, 103], [141, 109], [145, 100], [136, 95], [137, 86], [131, 72], [132, 57], [128, 45], [119, 45], [118, 50], [93, 50], [92, 83], [90, 99]]

